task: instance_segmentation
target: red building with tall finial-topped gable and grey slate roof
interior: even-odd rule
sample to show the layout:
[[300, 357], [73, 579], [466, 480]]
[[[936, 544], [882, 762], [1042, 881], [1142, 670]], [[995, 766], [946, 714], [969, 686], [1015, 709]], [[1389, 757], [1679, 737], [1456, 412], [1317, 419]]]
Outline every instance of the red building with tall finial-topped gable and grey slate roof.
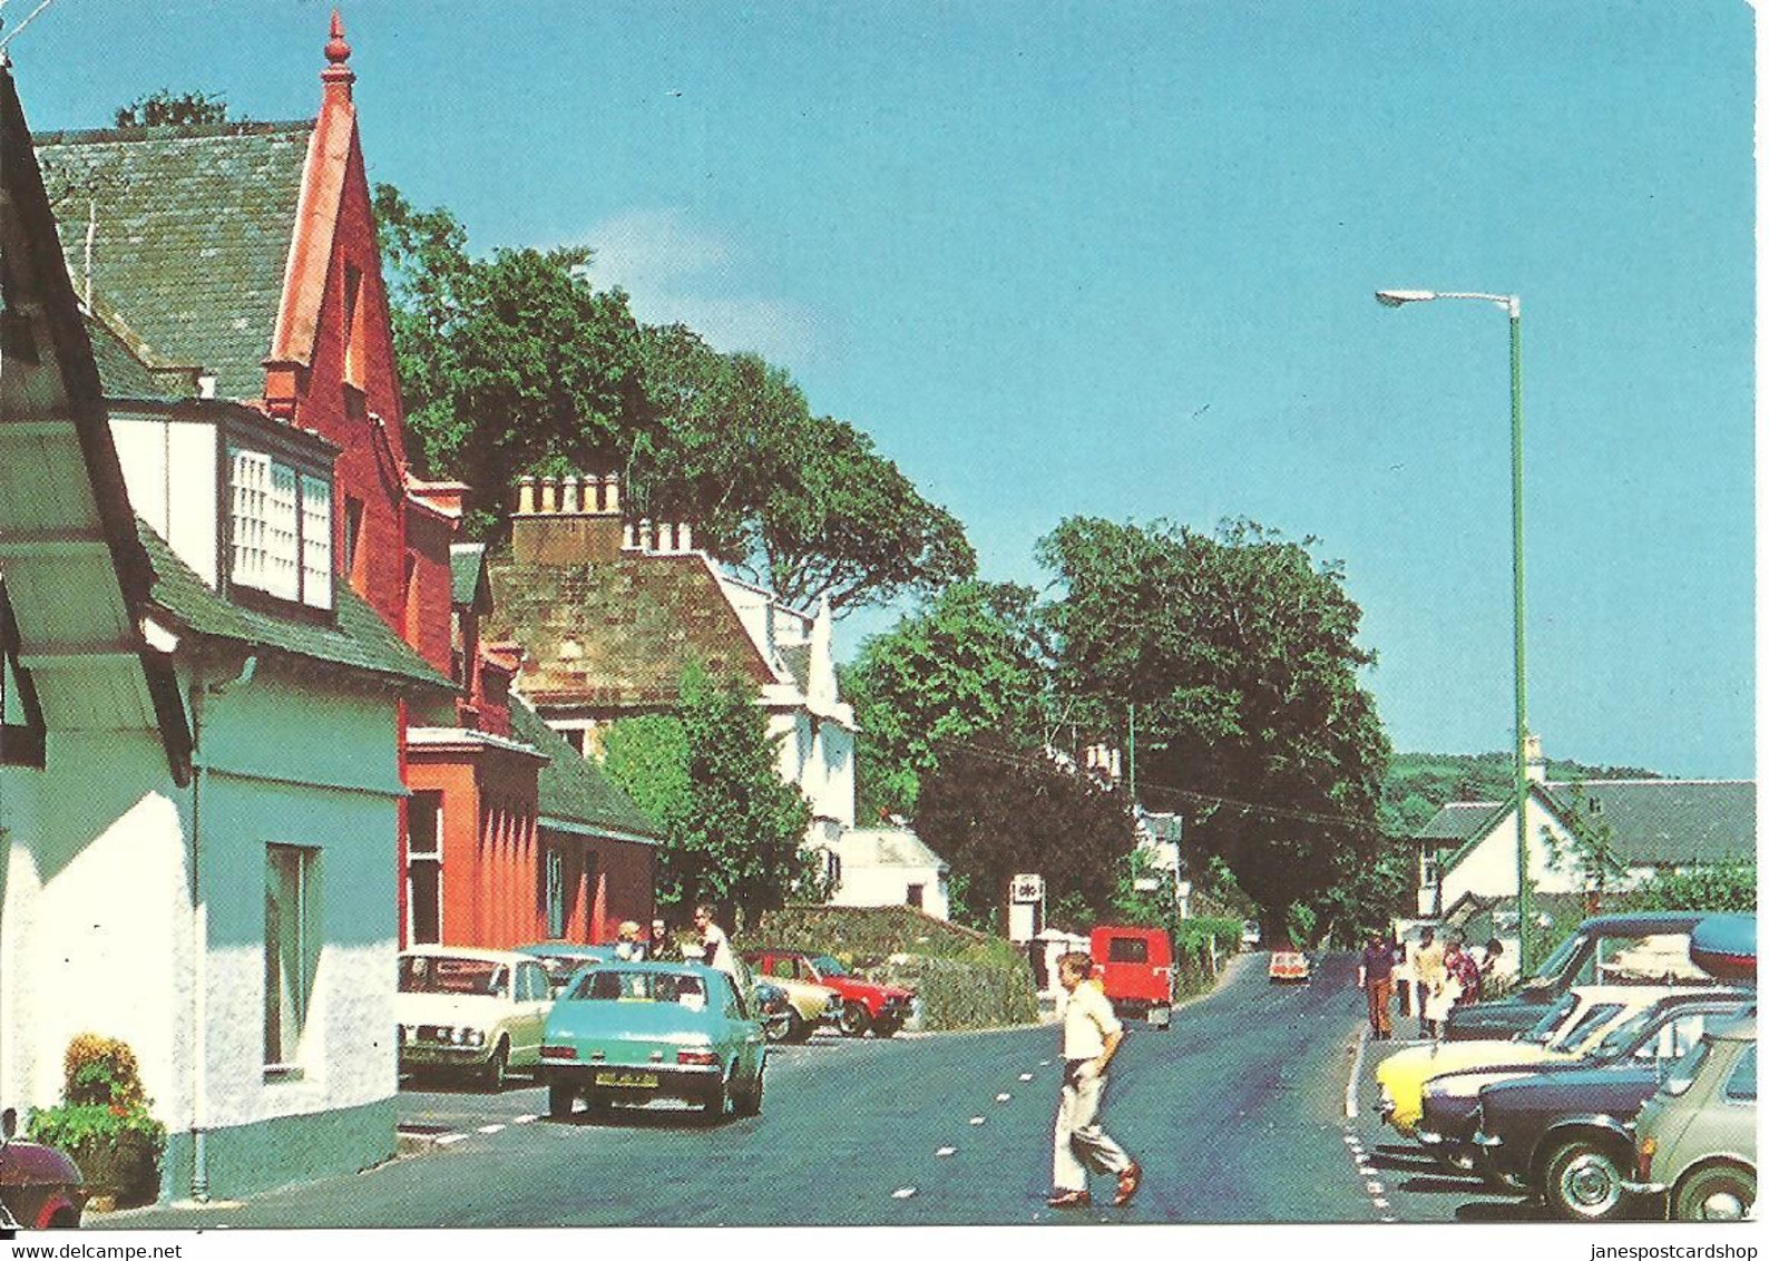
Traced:
[[[325, 62], [311, 122], [39, 136], [46, 179], [88, 207], [62, 225], [64, 251], [88, 304], [111, 313], [166, 389], [239, 398], [338, 447], [329, 529], [306, 536], [325, 515], [271, 479], [267, 493], [288, 497], [280, 545], [297, 566], [329, 550], [333, 569], [462, 688], [451, 725], [402, 718], [412, 796], [389, 907], [400, 944], [610, 939], [619, 920], [651, 918], [655, 828], [543, 723], [511, 715], [520, 649], [479, 642], [483, 555], [456, 545], [467, 486], [423, 483], [407, 462], [336, 12]], [[230, 226], [228, 253], [205, 249], [193, 267], [193, 242], [212, 242], [216, 223]]]

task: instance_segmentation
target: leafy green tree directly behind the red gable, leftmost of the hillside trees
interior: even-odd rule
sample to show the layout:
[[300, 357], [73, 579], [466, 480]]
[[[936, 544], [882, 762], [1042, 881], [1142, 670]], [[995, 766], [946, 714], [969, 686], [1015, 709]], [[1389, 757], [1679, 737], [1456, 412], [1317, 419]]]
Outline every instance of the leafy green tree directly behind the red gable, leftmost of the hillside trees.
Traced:
[[518, 476], [626, 470], [656, 439], [639, 324], [626, 294], [589, 283], [589, 249], [472, 258], [448, 210], [389, 184], [375, 219], [412, 455], [474, 486], [474, 532], [502, 536]]

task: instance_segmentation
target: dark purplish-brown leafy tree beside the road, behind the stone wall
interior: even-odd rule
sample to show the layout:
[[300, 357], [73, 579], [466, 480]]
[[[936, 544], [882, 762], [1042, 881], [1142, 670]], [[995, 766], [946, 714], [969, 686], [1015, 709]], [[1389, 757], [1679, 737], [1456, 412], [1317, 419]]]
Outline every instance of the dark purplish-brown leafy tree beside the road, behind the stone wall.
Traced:
[[915, 829], [962, 883], [966, 921], [992, 932], [1019, 872], [1044, 875], [1053, 921], [1060, 909], [1079, 920], [1081, 907], [1104, 920], [1136, 840], [1122, 792], [992, 732], [945, 750], [922, 776]]

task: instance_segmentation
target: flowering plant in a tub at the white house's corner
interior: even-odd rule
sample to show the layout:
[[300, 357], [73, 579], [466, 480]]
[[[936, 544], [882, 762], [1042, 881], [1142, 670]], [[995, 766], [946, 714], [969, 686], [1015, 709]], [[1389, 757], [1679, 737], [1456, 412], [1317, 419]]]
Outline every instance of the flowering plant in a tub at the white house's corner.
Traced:
[[150, 1104], [129, 1045], [81, 1033], [62, 1058], [62, 1102], [32, 1109], [30, 1137], [71, 1155], [94, 1201], [147, 1204], [159, 1196], [166, 1151], [166, 1127]]

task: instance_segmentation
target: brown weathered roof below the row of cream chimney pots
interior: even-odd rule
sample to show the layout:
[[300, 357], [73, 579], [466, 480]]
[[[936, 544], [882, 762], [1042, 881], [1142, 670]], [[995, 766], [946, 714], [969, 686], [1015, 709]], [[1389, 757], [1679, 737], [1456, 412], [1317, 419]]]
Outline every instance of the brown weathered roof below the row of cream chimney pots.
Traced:
[[492, 559], [485, 638], [527, 651], [520, 688], [541, 707], [665, 707], [683, 669], [775, 681], [718, 578], [693, 554], [624, 554], [582, 564]]

